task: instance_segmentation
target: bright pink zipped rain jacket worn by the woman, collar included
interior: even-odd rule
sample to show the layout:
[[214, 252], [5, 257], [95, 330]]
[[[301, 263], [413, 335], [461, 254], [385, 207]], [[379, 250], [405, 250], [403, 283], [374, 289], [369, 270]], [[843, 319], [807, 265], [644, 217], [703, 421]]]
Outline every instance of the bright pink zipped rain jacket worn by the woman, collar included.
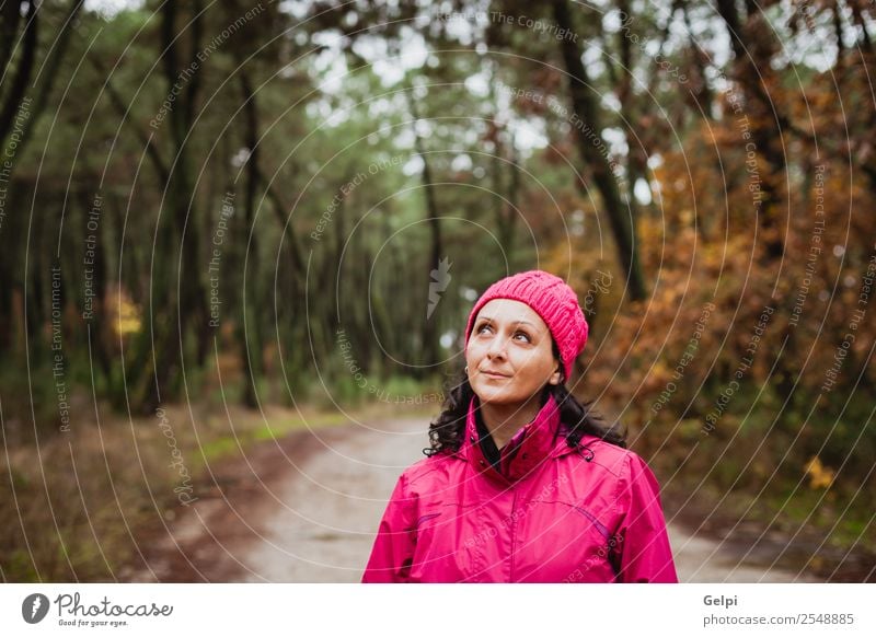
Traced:
[[568, 447], [550, 398], [503, 449], [465, 440], [399, 478], [364, 582], [677, 582], [659, 485], [635, 453]]

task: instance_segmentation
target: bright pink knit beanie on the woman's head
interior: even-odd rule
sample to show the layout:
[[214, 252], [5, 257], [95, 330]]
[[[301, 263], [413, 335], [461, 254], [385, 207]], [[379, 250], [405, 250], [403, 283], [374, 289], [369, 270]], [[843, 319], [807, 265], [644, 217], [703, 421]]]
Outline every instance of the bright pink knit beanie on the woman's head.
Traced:
[[477, 312], [493, 299], [520, 301], [541, 316], [560, 349], [565, 378], [568, 379], [572, 363], [584, 350], [589, 332], [575, 290], [560, 277], [542, 270], [529, 270], [496, 281], [477, 299], [469, 315], [469, 324], [465, 326], [466, 348]]

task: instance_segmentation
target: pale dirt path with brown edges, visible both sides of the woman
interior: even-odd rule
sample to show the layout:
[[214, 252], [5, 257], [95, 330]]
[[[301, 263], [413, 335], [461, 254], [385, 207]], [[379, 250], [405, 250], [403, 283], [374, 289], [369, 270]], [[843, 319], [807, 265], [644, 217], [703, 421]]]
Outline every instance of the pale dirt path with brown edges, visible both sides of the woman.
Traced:
[[[214, 468], [193, 506], [143, 544], [130, 581], [357, 582], [397, 475], [423, 458], [427, 417], [377, 420], [263, 443]], [[670, 523], [684, 582], [817, 581], [742, 559], [747, 547]], [[761, 564], [763, 555], [754, 555]]]

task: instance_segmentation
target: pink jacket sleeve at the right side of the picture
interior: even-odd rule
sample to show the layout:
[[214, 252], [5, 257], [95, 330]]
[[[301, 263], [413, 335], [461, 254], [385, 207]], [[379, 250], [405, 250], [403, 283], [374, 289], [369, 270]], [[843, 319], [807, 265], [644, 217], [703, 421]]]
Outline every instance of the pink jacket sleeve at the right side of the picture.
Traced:
[[654, 473], [644, 460], [630, 453], [619, 486], [622, 517], [613, 537], [616, 581], [678, 582]]

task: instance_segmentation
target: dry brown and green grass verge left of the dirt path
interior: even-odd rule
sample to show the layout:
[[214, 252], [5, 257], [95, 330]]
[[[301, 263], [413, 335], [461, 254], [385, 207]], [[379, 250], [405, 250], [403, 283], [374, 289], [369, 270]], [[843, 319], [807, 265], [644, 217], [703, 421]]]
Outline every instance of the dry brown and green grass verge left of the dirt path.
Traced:
[[[355, 414], [337, 407], [267, 406], [264, 415], [206, 403], [164, 407], [158, 416], [128, 418], [85, 396], [67, 433], [39, 435], [38, 443], [5, 447], [0, 473], [0, 581], [115, 581], [129, 564], [137, 530], [169, 519], [183, 484], [174, 462], [198, 485], [207, 466], [253, 445], [308, 428], [338, 427], [351, 418], [397, 416], [394, 405], [365, 404]], [[405, 413], [410, 408], [404, 409]], [[88, 416], [90, 414], [90, 417]], [[196, 495], [196, 494], [195, 494]]]

